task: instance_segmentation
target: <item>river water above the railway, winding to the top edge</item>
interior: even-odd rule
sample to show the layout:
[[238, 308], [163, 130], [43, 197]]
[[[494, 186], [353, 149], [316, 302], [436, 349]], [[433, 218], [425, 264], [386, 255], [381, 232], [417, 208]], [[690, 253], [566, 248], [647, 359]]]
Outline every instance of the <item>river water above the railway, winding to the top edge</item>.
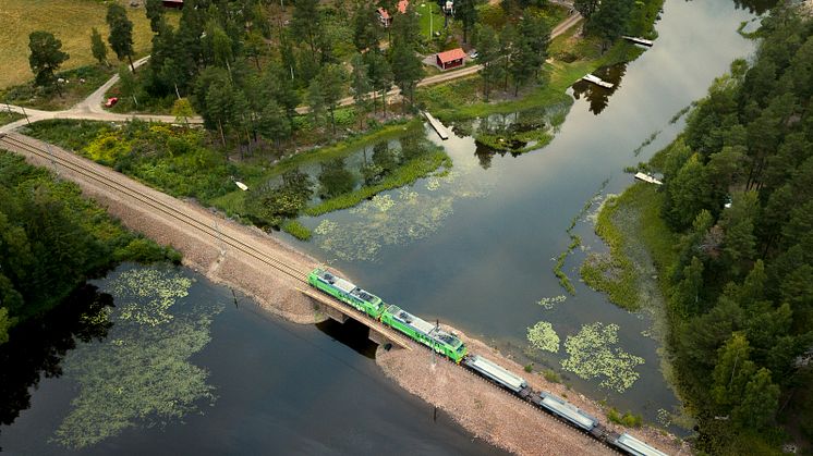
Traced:
[[[307, 220], [321, 234], [303, 248], [390, 303], [517, 354], [526, 349], [526, 329], [537, 321], [550, 322], [562, 343], [585, 324], [615, 323], [617, 346], [645, 360], [635, 368], [640, 379], [632, 387], [621, 394], [599, 386], [600, 379], [562, 373], [579, 391], [655, 419], [677, 399], [659, 371], [657, 343], [642, 334], [652, 322], [579, 282], [584, 254], [566, 262], [575, 296], [550, 310], [536, 303], [567, 295], [553, 268], [570, 243], [571, 219], [606, 180], [603, 194], [630, 185], [623, 168], [671, 141], [683, 125], [682, 120], [669, 125], [671, 116], [703, 97], [731, 60], [749, 57], [754, 45], [736, 29], [753, 17], [730, 1], [667, 0], [655, 46], [634, 62], [607, 70], [608, 78], [622, 76], [611, 95], [577, 86], [579, 99], [547, 147], [489, 161], [477, 157], [473, 138], [452, 137], [442, 141], [454, 163], [450, 177], [423, 180], [356, 209]], [[658, 131], [635, 157], [633, 150]], [[603, 248], [584, 219], [574, 233], [588, 248]], [[557, 370], [567, 357], [563, 346], [556, 355], [532, 355]]]

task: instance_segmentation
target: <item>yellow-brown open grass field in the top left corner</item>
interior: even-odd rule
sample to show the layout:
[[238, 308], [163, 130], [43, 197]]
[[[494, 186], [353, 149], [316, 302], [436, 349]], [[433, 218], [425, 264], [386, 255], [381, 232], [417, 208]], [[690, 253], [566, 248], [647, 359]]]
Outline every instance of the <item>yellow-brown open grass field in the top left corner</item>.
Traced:
[[[133, 21], [135, 51], [144, 54], [153, 39], [144, 8], [131, 8], [123, 1], [122, 4]], [[34, 77], [28, 67], [28, 34], [34, 30], [50, 32], [62, 41], [62, 50], [71, 54], [62, 70], [93, 63], [90, 28], [98, 28], [107, 41], [106, 13], [107, 7], [97, 0], [0, 0], [0, 88]], [[116, 63], [109, 47], [108, 59]]]

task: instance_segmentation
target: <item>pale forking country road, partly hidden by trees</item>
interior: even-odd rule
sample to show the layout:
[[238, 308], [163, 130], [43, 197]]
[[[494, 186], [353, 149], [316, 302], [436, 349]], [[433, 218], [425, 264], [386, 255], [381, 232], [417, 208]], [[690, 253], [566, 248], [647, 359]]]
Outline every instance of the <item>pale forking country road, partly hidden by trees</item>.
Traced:
[[[563, 34], [566, 30], [568, 30], [570, 27], [575, 25], [581, 20], [582, 20], [582, 16], [579, 13], [571, 14], [565, 21], [559, 23], [559, 25], [554, 27], [554, 29], [550, 33], [550, 38], [553, 39]], [[149, 56], [143, 59], [139, 59], [133, 63], [136, 67], [138, 67], [143, 65], [144, 63], [146, 63], [148, 59], [149, 59]], [[457, 79], [460, 77], [471, 76], [477, 73], [478, 71], [481, 71], [482, 69], [483, 69], [483, 65], [471, 65], [462, 70], [436, 74], [436, 75], [428, 76], [428, 77], [421, 79], [421, 82], [417, 83], [417, 86], [424, 87], [424, 86], [428, 86], [433, 84], [445, 83], [445, 82]], [[21, 119], [12, 123], [1, 125], [0, 133], [12, 132], [28, 123], [34, 123], [34, 122], [39, 122], [39, 121], [50, 120], [50, 119], [76, 119], [76, 120], [92, 120], [92, 121], [105, 121], [105, 122], [126, 122], [126, 121], [131, 121], [134, 119], [138, 119], [143, 121], [175, 123], [174, 115], [118, 114], [118, 113], [106, 111], [101, 107], [105, 100], [105, 94], [117, 82], [119, 82], [118, 74], [111, 77], [101, 87], [96, 89], [93, 94], [90, 94], [90, 96], [80, 101], [78, 103], [73, 106], [71, 109], [63, 110], [63, 111], [41, 111], [38, 109], [29, 109], [29, 108], [24, 109], [23, 107], [19, 107], [19, 106], [9, 106], [8, 109], [10, 109], [13, 112], [17, 112], [20, 114], [25, 114], [27, 115], [27, 119]], [[392, 100], [395, 99], [395, 97], [398, 97], [400, 95], [401, 95], [401, 89], [393, 88], [392, 90], [389, 90], [387, 93], [387, 98]], [[339, 100], [339, 106], [342, 106], [342, 107], [350, 106], [350, 104], [353, 104], [353, 102], [354, 102], [353, 97], [345, 97]], [[296, 108], [296, 112], [300, 114], [306, 114], [308, 111], [310, 109], [307, 107]], [[194, 123], [194, 124], [201, 124], [203, 123], [203, 119], [199, 116], [193, 116], [193, 118], [189, 118], [189, 122]]]

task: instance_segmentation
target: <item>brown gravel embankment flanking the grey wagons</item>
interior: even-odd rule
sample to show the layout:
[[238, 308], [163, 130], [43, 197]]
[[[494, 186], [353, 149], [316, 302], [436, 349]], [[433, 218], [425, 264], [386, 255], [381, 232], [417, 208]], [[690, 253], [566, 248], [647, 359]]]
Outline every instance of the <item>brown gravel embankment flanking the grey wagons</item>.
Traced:
[[[627, 432], [606, 416], [606, 407], [570, 390], [561, 383], [547, 381], [539, 372], [530, 373], [485, 343], [469, 337], [453, 328], [470, 353], [485, 356], [517, 375], [531, 387], [548, 391], [597, 417], [615, 432]], [[604, 455], [615, 454], [608, 446], [558, 421], [544, 411], [499, 390], [494, 384], [439, 357], [429, 350], [385, 350], [379, 347], [376, 362], [385, 374], [410, 393], [448, 412], [464, 429], [477, 437], [520, 455]], [[654, 428], [629, 431], [668, 454], [688, 452], [688, 444]]]

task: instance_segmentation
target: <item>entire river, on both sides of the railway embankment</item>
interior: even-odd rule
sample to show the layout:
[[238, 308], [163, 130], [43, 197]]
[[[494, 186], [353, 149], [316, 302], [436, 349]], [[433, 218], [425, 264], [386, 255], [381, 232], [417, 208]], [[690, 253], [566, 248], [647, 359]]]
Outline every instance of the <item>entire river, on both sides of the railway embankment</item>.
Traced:
[[[751, 19], [731, 1], [667, 0], [655, 46], [617, 69], [620, 86], [607, 100], [596, 104], [595, 97], [580, 96], [547, 147], [500, 156], [485, 153], [470, 136], [440, 141], [427, 131], [453, 160], [447, 175], [305, 220], [318, 226], [314, 239], [288, 241], [391, 304], [527, 356], [577, 391], [656, 420], [678, 400], [659, 370], [652, 320], [579, 282], [582, 250], [563, 266], [575, 286], [568, 294], [553, 273], [555, 258], [570, 243], [566, 230], [573, 218], [584, 246], [603, 248], [586, 217], [596, 206], [580, 217], [581, 208], [597, 193], [630, 185], [623, 168], [672, 140], [683, 125], [669, 124], [672, 115], [702, 97], [732, 59], [753, 51], [753, 42], [736, 33]], [[633, 150], [654, 132], [636, 157]], [[161, 289], [153, 282], [130, 292], [117, 285], [138, 271], [153, 269], [125, 264], [95, 282], [117, 296], [116, 307], [105, 310], [111, 328], [73, 315], [73, 323], [53, 323], [64, 330], [59, 341], [36, 344], [35, 337], [21, 352], [24, 360], [3, 366], [20, 370], [10, 375], [19, 383], [7, 391], [23, 392], [4, 410], [7, 419], [20, 411], [0, 428], [4, 451], [62, 454], [68, 445], [81, 446], [78, 454], [372, 454], [386, 445], [393, 454], [497, 452], [384, 378], [363, 331], [332, 323], [315, 331], [263, 316], [250, 299], [235, 301], [228, 288], [184, 269], [149, 279], [183, 285], [183, 293], [151, 296]], [[560, 295], [566, 298], [537, 304]], [[147, 303], [151, 313], [128, 303]], [[529, 347], [527, 328], [539, 321], [560, 338], [558, 352]], [[566, 341], [586, 334], [584, 328], [605, 335], [599, 343], [615, 359], [632, 361], [617, 371], [631, 383], [617, 387], [612, 379], [603, 384], [606, 375], [582, 378], [562, 368]], [[602, 332], [608, 328], [617, 328], [617, 342]], [[88, 342], [72, 348], [65, 343], [71, 334]], [[94, 334], [104, 337], [90, 340]], [[44, 366], [51, 374], [27, 389]]]

